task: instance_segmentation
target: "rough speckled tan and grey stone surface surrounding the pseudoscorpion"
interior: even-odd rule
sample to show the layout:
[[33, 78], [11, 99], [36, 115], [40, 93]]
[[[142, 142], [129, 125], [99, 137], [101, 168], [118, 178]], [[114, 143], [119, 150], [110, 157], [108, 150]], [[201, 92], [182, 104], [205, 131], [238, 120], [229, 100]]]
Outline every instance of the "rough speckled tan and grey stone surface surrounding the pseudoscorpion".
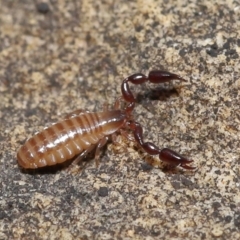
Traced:
[[[0, 239], [240, 239], [238, 1], [0, 5]], [[126, 76], [151, 69], [188, 82], [135, 87], [135, 118], [196, 171], [121, 138], [98, 169], [19, 169], [26, 138], [114, 103]]]

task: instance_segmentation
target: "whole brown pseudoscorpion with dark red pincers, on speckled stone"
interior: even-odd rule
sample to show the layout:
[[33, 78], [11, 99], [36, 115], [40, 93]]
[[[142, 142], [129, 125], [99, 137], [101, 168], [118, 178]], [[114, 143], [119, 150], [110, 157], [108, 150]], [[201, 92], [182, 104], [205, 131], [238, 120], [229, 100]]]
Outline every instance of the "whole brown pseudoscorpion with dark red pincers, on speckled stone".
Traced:
[[96, 148], [95, 161], [98, 164], [100, 149], [109, 137], [114, 138], [117, 132], [128, 129], [133, 132], [135, 141], [150, 155], [158, 155], [162, 161], [185, 169], [195, 169], [188, 164], [193, 162], [169, 148], [159, 149], [151, 142], [143, 139], [141, 125], [133, 119], [134, 98], [128, 83], [143, 84], [169, 82], [173, 79], [186, 81], [180, 76], [166, 71], [151, 71], [148, 76], [141, 73], [133, 74], [123, 80], [121, 85], [122, 98], [127, 106], [119, 109], [119, 99], [113, 110], [88, 112], [77, 110], [64, 120], [44, 129], [28, 139], [17, 153], [18, 164], [22, 168], [35, 169], [56, 165], [79, 155], [77, 163], [87, 153]]

